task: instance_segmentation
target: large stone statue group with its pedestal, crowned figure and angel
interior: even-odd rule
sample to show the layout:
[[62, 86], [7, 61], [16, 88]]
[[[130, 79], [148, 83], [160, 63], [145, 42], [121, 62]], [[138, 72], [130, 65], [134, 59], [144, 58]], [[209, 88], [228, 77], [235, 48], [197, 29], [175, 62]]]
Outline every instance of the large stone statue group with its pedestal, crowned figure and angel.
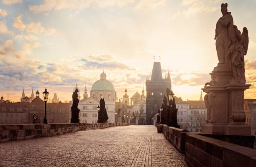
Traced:
[[243, 109], [246, 84], [244, 55], [248, 49], [248, 30], [243, 33], [233, 24], [228, 4], [221, 4], [222, 17], [215, 30], [216, 51], [219, 63], [210, 73], [211, 81], [202, 89], [207, 107], [207, 123], [202, 132], [207, 134], [248, 135], [251, 129], [245, 124]]

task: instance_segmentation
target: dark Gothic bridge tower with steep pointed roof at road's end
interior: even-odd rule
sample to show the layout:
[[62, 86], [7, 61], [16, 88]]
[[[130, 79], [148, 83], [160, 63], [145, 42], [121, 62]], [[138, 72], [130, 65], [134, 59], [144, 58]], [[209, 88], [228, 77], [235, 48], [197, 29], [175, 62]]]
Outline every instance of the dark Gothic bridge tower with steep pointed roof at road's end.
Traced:
[[146, 79], [146, 123], [153, 124], [152, 117], [160, 109], [163, 97], [166, 96], [166, 88], [172, 90], [171, 76], [168, 71], [167, 78], [163, 78], [161, 63], [154, 62], [151, 73], [151, 80]]

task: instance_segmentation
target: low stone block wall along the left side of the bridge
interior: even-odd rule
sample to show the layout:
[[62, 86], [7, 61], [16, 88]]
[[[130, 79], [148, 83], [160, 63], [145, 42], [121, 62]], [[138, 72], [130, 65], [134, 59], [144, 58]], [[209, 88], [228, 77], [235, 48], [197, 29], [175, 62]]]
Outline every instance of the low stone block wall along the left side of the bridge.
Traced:
[[104, 129], [108, 127], [136, 125], [136, 123], [97, 123], [97, 124], [18, 124], [0, 125], [0, 142], [33, 139], [38, 137], [51, 137], [58, 134]]

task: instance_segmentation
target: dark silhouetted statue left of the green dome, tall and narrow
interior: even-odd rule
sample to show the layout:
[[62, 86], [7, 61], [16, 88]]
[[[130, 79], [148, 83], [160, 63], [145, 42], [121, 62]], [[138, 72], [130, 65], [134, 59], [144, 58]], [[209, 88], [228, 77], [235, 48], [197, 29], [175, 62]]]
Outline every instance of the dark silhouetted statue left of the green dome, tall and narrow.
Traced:
[[79, 103], [77, 92], [78, 92], [78, 89], [76, 89], [73, 92], [73, 95], [72, 95], [73, 104], [72, 104], [72, 107], [71, 107], [70, 123], [79, 123], [79, 112], [80, 112], [80, 110], [77, 108], [78, 103]]

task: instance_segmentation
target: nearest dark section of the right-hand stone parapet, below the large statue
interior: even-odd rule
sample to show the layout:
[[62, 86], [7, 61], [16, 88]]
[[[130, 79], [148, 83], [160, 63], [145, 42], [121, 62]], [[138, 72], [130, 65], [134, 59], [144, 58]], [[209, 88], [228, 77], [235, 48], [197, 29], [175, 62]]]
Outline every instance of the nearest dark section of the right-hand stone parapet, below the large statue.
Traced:
[[187, 134], [186, 161], [191, 167], [254, 167], [256, 150], [199, 134]]

